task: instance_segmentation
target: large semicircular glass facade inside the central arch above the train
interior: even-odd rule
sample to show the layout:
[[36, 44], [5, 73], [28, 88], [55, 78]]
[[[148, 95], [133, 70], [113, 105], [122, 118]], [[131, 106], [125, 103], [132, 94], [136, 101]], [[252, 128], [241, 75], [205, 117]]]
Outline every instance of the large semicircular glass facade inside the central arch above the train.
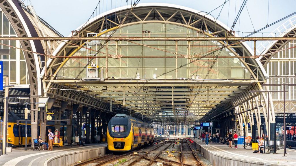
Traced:
[[[196, 30], [182, 27], [180, 25], [165, 23], [139, 23], [123, 26], [115, 32], [113, 37], [148, 37], [149, 34], [142, 34], [142, 31], [149, 30], [151, 37], [193, 37]], [[108, 36], [107, 32], [104, 36]], [[86, 43], [86, 47], [99, 50], [100, 43], [104, 41], [92, 41]], [[176, 79], [176, 66], [178, 69], [177, 78], [200, 78], [200, 79], [250, 79], [250, 71], [244, 64], [235, 57], [231, 50], [223, 48], [221, 51], [207, 55], [221, 44], [216, 41], [178, 41], [176, 60], [175, 41], [115, 41], [108, 42], [101, 52], [94, 59], [94, 64], [103, 67], [106, 72], [106, 53], [108, 51], [108, 74], [107, 77], [115, 78], [136, 78], [141, 79]], [[117, 45], [117, 46], [116, 46]], [[71, 49], [71, 48], [69, 48]], [[93, 56], [95, 51], [85, 48], [78, 51], [67, 51], [69, 56]], [[111, 58], [110, 56], [120, 58]], [[206, 58], [201, 58], [202, 56]], [[216, 56], [219, 56], [215, 60]], [[223, 56], [228, 56], [225, 58]], [[233, 58], [231, 58], [233, 56]], [[176, 62], [177, 61], [177, 62]], [[193, 62], [192, 62], [193, 61]], [[70, 58], [59, 71], [59, 76], [75, 78], [87, 64], [88, 58]], [[192, 62], [192, 63], [191, 63]], [[104, 74], [105, 76], [105, 74]], [[83, 71], [81, 78], [86, 77]]]

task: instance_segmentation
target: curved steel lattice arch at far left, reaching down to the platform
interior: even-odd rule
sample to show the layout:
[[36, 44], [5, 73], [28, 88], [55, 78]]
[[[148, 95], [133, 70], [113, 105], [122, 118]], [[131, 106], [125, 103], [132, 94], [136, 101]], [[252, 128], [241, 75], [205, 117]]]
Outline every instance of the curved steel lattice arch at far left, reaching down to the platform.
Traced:
[[[17, 1], [14, 0], [0, 0], [0, 7], [4, 12], [5, 16], [9, 20], [12, 25], [15, 33], [19, 37], [32, 37], [27, 22], [23, 18], [24, 15], [21, 14], [21, 7], [17, 6]], [[35, 29], [34, 29], [35, 30]], [[20, 45], [23, 49], [36, 52], [35, 43], [33, 41], [20, 41]], [[37, 54], [30, 53], [28, 51], [24, 51], [24, 56], [26, 60], [26, 64], [28, 67], [29, 74], [29, 87], [30, 87], [30, 102], [38, 102], [38, 96], [41, 95], [41, 80], [38, 79], [40, 75], [40, 67], [38, 62]], [[38, 108], [35, 107], [34, 104], [31, 104], [31, 128], [32, 128], [32, 136], [36, 135], [37, 138], [37, 123], [38, 123]], [[44, 116], [45, 117], [45, 116]], [[45, 131], [45, 129], [44, 129]], [[45, 135], [45, 133], [44, 133]]]

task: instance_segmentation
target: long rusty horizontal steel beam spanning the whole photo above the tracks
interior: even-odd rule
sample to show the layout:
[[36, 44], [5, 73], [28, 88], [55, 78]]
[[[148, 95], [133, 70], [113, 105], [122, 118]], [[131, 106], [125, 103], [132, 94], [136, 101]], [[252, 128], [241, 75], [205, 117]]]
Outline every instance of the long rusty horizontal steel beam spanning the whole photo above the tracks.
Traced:
[[180, 41], [264, 41], [264, 40], [296, 40], [295, 37], [0, 37], [0, 40], [53, 40], [53, 41], [152, 41], [152, 40], [180, 40]]

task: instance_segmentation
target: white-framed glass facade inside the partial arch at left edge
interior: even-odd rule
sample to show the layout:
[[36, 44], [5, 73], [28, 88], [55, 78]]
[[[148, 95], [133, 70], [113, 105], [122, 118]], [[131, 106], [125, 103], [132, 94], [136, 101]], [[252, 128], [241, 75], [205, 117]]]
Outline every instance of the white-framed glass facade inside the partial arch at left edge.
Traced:
[[[12, 28], [9, 20], [4, 15], [0, 8], [0, 35], [1, 37], [17, 37], [14, 29]], [[4, 75], [9, 75], [9, 84], [24, 85], [29, 84], [28, 71], [23, 51], [16, 48], [11, 48], [7, 45], [11, 45], [20, 48], [20, 41], [10, 40], [1, 41], [1, 48], [10, 49], [10, 55], [0, 55], [1, 61], [3, 61]]]

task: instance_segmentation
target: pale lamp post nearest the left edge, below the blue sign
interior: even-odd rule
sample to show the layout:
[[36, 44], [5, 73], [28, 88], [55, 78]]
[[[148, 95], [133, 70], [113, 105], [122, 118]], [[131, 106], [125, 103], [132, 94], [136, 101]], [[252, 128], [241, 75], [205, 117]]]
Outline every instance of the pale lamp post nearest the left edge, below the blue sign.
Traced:
[[[7, 86], [4, 86], [3, 88], [11, 88], [11, 87], [14, 87], [14, 85], [7, 85]], [[0, 96], [0, 98], [3, 98], [5, 100], [5, 108], [4, 108], [4, 111], [3, 111], [3, 143], [2, 143], [2, 151], [4, 151], [4, 154], [7, 154], [7, 151], [6, 151], [6, 147], [7, 147], [7, 127], [8, 127], [8, 100], [9, 99], [28, 99], [29, 97], [8, 97], [8, 94], [6, 94], [5, 97], [2, 97]]]

